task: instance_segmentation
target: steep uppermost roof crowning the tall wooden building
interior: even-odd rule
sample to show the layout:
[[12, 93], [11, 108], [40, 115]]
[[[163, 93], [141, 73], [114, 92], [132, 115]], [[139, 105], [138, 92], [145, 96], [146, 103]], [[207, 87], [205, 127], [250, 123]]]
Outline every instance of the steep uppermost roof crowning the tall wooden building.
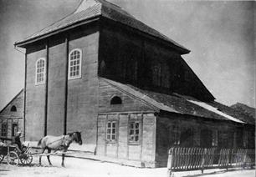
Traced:
[[14, 45], [23, 47], [25, 43], [31, 43], [41, 38], [49, 37], [54, 34], [54, 32], [67, 29], [74, 24], [83, 23], [92, 18], [100, 17], [108, 18], [115, 22], [130, 26], [131, 28], [136, 28], [137, 30], [147, 33], [153, 37], [160, 38], [171, 46], [179, 48], [182, 53], [190, 52], [187, 48], [176, 43], [171, 38], [166, 37], [155, 29], [150, 28], [145, 23], [137, 20], [130, 13], [125, 12], [124, 9], [113, 3], [106, 2], [105, 0], [84, 0], [79, 4], [79, 7], [74, 11], [74, 13], [71, 13], [69, 16], [60, 19], [58, 22], [49, 25], [47, 28], [44, 28], [37, 33], [33, 33], [28, 38], [16, 42]]

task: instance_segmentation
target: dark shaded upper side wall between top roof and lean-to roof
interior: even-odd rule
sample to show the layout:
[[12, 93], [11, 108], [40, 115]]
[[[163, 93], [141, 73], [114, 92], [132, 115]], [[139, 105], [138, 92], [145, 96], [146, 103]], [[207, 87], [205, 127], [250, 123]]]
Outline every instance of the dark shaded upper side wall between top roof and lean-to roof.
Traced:
[[131, 28], [102, 22], [99, 61], [102, 77], [165, 94], [214, 99], [175, 49]]

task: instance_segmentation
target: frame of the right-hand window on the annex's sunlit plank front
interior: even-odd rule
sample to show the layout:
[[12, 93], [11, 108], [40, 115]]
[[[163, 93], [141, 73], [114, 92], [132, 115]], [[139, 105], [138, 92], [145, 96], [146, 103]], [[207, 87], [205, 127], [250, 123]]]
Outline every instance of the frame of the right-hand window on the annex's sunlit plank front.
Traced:
[[[139, 128], [136, 129], [136, 123], [139, 124]], [[133, 125], [133, 129], [131, 129], [131, 124]], [[141, 120], [130, 120], [129, 124], [128, 124], [128, 143], [131, 145], [139, 145], [141, 144], [141, 127], [142, 127], [142, 122]], [[133, 134], [131, 134], [131, 130], [133, 130]], [[139, 134], [136, 134], [136, 130], [139, 130]], [[131, 140], [131, 135], [133, 135], [134, 137], [138, 137], [138, 140]], [[136, 138], [134, 138], [136, 139]]]

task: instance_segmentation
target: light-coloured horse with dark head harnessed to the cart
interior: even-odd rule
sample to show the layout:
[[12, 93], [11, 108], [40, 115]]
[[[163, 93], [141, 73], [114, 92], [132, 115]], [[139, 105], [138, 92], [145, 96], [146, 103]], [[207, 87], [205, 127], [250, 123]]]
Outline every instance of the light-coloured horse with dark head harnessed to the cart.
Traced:
[[[41, 146], [42, 154], [44, 153], [45, 149], [48, 149], [48, 153], [51, 153], [51, 150], [54, 150], [54, 153], [58, 150], [63, 150], [63, 152], [66, 152], [69, 148], [69, 145], [72, 142], [78, 143], [79, 145], [83, 144], [82, 143], [82, 138], [81, 138], [81, 132], [73, 132], [67, 135], [61, 135], [61, 136], [52, 136], [52, 135], [47, 135], [44, 136], [44, 138], [40, 139], [38, 141], [38, 146]], [[64, 167], [64, 157], [65, 155], [62, 154], [62, 163], [61, 166]], [[41, 165], [41, 158], [42, 156], [39, 156], [39, 164]], [[47, 159], [49, 162], [49, 165], [52, 165], [49, 155], [47, 155]]]

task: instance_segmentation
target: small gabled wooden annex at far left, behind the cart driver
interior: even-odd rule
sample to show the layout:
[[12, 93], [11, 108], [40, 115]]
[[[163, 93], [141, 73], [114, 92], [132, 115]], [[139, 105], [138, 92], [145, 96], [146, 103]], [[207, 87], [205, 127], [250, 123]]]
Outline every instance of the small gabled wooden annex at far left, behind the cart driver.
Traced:
[[0, 111], [0, 138], [11, 139], [23, 130], [23, 89]]

